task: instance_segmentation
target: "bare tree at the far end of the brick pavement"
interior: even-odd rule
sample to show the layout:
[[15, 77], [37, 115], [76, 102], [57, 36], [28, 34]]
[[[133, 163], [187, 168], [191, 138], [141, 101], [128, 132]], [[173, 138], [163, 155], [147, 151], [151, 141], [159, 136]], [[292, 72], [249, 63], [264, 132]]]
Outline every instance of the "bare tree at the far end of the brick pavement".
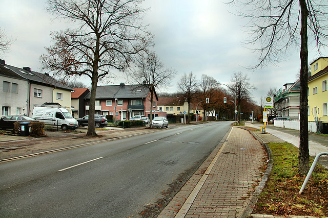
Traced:
[[241, 101], [251, 100], [251, 91], [256, 88], [250, 84], [250, 78], [242, 72], [234, 72], [229, 83], [230, 93], [236, 99], [235, 104], [238, 108], [238, 122], [240, 123], [240, 105]]

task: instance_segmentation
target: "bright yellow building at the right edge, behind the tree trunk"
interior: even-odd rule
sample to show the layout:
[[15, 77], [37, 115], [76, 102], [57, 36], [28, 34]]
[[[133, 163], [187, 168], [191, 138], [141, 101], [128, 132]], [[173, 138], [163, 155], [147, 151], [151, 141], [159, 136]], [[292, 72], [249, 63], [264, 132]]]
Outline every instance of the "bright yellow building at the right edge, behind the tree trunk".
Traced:
[[308, 78], [308, 119], [328, 121], [328, 57], [318, 58], [311, 63], [311, 77]]

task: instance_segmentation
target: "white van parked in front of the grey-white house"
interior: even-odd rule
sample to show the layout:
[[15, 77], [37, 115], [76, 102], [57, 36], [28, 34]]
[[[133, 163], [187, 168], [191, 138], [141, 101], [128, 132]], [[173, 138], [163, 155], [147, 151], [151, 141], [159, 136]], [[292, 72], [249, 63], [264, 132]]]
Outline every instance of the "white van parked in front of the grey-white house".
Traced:
[[45, 122], [46, 125], [58, 126], [62, 130], [75, 130], [78, 127], [77, 120], [66, 108], [60, 106], [34, 106], [33, 119]]

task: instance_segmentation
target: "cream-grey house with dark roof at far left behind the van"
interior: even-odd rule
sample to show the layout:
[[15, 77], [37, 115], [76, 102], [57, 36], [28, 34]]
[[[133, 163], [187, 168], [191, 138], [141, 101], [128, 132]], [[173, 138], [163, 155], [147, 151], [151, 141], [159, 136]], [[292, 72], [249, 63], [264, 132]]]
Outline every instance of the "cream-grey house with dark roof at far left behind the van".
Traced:
[[[71, 91], [73, 89], [70, 87], [61, 84], [47, 73], [40, 74], [39, 72], [31, 71], [30, 67], [18, 68], [10, 66], [4, 60], [0, 60], [0, 65], [2, 66], [0, 68], [0, 75], [3, 78], [11, 78], [10, 81], [2, 79], [1, 84], [3, 85], [3, 89], [5, 88], [7, 92], [10, 90], [10, 93], [17, 90], [17, 95], [11, 94], [11, 102], [0, 100], [3, 114], [20, 113], [20, 108], [22, 108], [23, 114], [32, 116], [34, 105], [41, 105], [46, 102], [58, 103], [71, 111]], [[12, 77], [6, 76], [9, 74], [8, 70], [22, 79], [19, 84], [15, 83]], [[11, 87], [8, 88], [8, 86]], [[19, 90], [22, 91], [20, 92]], [[6, 98], [9, 98], [8, 93], [6, 95]], [[22, 104], [26, 106], [22, 107]]]

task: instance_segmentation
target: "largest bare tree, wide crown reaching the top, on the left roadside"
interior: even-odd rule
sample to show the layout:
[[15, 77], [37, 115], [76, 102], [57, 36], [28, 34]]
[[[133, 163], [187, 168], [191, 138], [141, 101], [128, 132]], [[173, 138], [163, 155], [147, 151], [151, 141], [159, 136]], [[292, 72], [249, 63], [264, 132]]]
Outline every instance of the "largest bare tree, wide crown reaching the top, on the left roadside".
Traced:
[[124, 70], [134, 55], [147, 50], [152, 35], [140, 25], [140, 0], [48, 0], [48, 11], [72, 21], [76, 29], [53, 32], [54, 45], [41, 57], [44, 68], [55, 75], [85, 75], [91, 79], [87, 135], [94, 127], [97, 83], [110, 77], [110, 70]]

